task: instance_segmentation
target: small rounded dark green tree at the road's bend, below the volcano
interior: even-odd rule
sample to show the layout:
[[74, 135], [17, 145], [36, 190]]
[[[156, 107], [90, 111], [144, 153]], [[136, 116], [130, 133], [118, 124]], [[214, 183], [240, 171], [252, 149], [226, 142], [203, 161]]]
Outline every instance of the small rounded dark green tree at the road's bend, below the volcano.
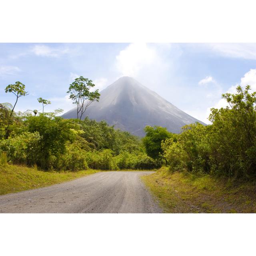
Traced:
[[143, 144], [146, 148], [146, 153], [153, 159], [159, 159], [163, 153], [161, 148], [162, 141], [167, 138], [172, 138], [174, 135], [164, 127], [160, 126], [146, 126], [144, 128], [146, 136], [143, 138]]

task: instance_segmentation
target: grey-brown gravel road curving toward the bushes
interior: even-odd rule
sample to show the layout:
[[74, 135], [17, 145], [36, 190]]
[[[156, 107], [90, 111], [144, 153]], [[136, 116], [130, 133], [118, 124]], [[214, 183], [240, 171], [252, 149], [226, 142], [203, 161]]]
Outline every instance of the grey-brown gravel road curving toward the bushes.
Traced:
[[160, 213], [140, 180], [147, 171], [98, 172], [45, 188], [0, 196], [6, 213]]

